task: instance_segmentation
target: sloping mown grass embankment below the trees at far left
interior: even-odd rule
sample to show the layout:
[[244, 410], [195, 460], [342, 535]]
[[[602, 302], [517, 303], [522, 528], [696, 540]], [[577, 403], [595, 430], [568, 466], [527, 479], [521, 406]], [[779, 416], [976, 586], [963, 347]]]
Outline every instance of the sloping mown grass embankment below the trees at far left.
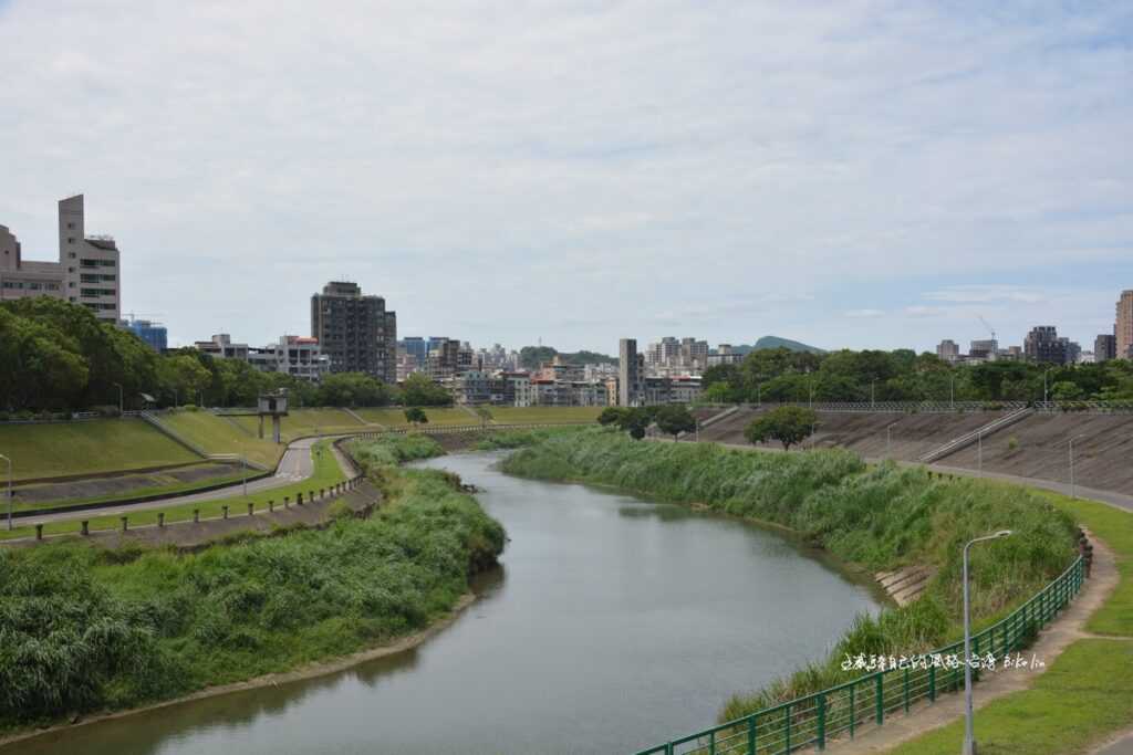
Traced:
[[[138, 419], [0, 424], [0, 454], [16, 480], [138, 470], [199, 461]], [[0, 478], [7, 475], [0, 462]]]

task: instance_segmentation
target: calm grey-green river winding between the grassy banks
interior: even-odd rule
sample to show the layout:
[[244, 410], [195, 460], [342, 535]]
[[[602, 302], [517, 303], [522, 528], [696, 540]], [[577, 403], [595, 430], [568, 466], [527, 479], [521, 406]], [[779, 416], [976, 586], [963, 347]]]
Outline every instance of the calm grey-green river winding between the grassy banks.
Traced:
[[630, 753], [825, 653], [870, 589], [756, 526], [445, 456], [511, 541], [421, 646], [331, 676], [49, 735], [0, 755]]

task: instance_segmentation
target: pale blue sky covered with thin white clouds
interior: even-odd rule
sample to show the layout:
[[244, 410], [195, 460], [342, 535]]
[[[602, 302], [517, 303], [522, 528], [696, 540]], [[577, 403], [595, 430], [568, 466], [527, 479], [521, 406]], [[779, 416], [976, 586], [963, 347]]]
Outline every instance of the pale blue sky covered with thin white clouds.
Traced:
[[1133, 289], [1133, 3], [0, 0], [0, 224], [171, 343], [1092, 348]]

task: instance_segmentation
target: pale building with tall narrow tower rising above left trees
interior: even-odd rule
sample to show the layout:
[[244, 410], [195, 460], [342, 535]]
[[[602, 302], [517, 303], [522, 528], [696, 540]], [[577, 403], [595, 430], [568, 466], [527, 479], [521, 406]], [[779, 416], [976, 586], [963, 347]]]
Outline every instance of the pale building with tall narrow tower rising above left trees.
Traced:
[[59, 261], [23, 259], [16, 237], [0, 225], [0, 300], [53, 297], [117, 323], [122, 308], [121, 258], [109, 235], [87, 235], [83, 195], [59, 200]]

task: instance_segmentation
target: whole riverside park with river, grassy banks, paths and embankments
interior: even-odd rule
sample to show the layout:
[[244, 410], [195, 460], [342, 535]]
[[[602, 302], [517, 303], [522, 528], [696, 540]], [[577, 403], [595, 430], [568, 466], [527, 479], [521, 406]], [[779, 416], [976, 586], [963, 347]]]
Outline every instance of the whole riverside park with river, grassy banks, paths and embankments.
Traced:
[[2, 423], [0, 753], [1125, 752], [1102, 409]]

